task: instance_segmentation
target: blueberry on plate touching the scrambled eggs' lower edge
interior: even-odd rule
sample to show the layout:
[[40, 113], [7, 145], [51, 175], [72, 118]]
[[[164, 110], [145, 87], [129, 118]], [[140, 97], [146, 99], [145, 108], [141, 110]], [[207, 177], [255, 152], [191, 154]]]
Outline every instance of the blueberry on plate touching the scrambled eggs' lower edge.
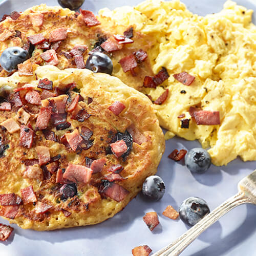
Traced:
[[202, 174], [210, 167], [211, 157], [203, 148], [192, 148], [185, 155], [185, 164], [190, 172]]

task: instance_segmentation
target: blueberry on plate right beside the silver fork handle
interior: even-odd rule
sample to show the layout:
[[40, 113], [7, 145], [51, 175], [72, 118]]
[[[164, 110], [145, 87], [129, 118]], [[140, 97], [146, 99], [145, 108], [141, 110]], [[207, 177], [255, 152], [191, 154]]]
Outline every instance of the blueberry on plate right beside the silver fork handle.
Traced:
[[180, 219], [189, 226], [197, 224], [209, 212], [207, 203], [199, 197], [187, 198], [179, 209]]

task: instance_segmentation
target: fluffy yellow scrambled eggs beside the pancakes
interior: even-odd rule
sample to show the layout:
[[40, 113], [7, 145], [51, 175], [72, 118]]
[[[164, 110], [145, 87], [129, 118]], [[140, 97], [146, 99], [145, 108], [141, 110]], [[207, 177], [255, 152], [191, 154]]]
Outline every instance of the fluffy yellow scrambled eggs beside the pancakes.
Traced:
[[[160, 125], [175, 135], [198, 139], [209, 148], [212, 163], [226, 165], [240, 156], [256, 160], [256, 27], [252, 10], [232, 1], [220, 13], [205, 17], [189, 12], [178, 0], [148, 0], [137, 7], [102, 9], [117, 25], [133, 25], [156, 43], [147, 51], [154, 73], [162, 67], [169, 78], [156, 88], [141, 91], [156, 100], [166, 89], [168, 97], [154, 104]], [[174, 78], [187, 72], [190, 86]], [[189, 108], [219, 111], [219, 125], [197, 124]], [[190, 119], [181, 127], [181, 118]]]

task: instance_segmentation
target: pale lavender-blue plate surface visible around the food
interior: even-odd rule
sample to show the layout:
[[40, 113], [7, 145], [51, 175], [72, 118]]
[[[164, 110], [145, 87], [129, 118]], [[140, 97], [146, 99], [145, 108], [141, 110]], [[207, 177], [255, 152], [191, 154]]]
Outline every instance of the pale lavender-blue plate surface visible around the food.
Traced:
[[[237, 0], [239, 5], [256, 12], [255, 0]], [[130, 5], [137, 5], [140, 0], [130, 0]], [[225, 0], [183, 0], [191, 12], [199, 15], [219, 12]], [[58, 5], [57, 0], [0, 0], [0, 17], [13, 10], [25, 9], [46, 3]], [[127, 5], [125, 0], [86, 0], [83, 9], [95, 13], [103, 7], [110, 9]], [[256, 24], [255, 14], [253, 23]], [[6, 242], [0, 243], [0, 255], [3, 256], [45, 256], [45, 255], [132, 255], [132, 248], [147, 244], [156, 252], [167, 243], [175, 240], [187, 227], [181, 220], [173, 221], [162, 215], [170, 204], [178, 209], [181, 202], [190, 196], [201, 197], [214, 209], [230, 196], [237, 193], [238, 182], [256, 168], [256, 162], [242, 162], [236, 159], [227, 166], [211, 166], [203, 175], [191, 175], [184, 163], [176, 163], [167, 158], [175, 148], [197, 147], [197, 141], [185, 141], [173, 138], [166, 141], [166, 151], [158, 167], [158, 175], [165, 182], [164, 197], [159, 202], [148, 202], [141, 194], [132, 200], [127, 207], [112, 219], [103, 223], [55, 231], [38, 232], [23, 230], [12, 225], [14, 235]], [[156, 211], [160, 225], [151, 232], [142, 220], [148, 211]], [[256, 224], [255, 205], [242, 205], [230, 211], [219, 222], [194, 241], [182, 256], [253, 256], [255, 255]], [[0, 222], [8, 221], [0, 218]]]

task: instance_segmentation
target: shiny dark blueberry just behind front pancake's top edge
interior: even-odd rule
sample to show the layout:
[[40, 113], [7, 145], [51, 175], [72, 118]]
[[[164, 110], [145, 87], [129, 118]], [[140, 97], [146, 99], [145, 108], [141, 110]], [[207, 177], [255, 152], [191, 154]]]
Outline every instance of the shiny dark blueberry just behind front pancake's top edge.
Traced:
[[108, 55], [102, 52], [94, 52], [87, 59], [86, 68], [92, 70], [94, 73], [101, 72], [111, 75], [113, 63]]

